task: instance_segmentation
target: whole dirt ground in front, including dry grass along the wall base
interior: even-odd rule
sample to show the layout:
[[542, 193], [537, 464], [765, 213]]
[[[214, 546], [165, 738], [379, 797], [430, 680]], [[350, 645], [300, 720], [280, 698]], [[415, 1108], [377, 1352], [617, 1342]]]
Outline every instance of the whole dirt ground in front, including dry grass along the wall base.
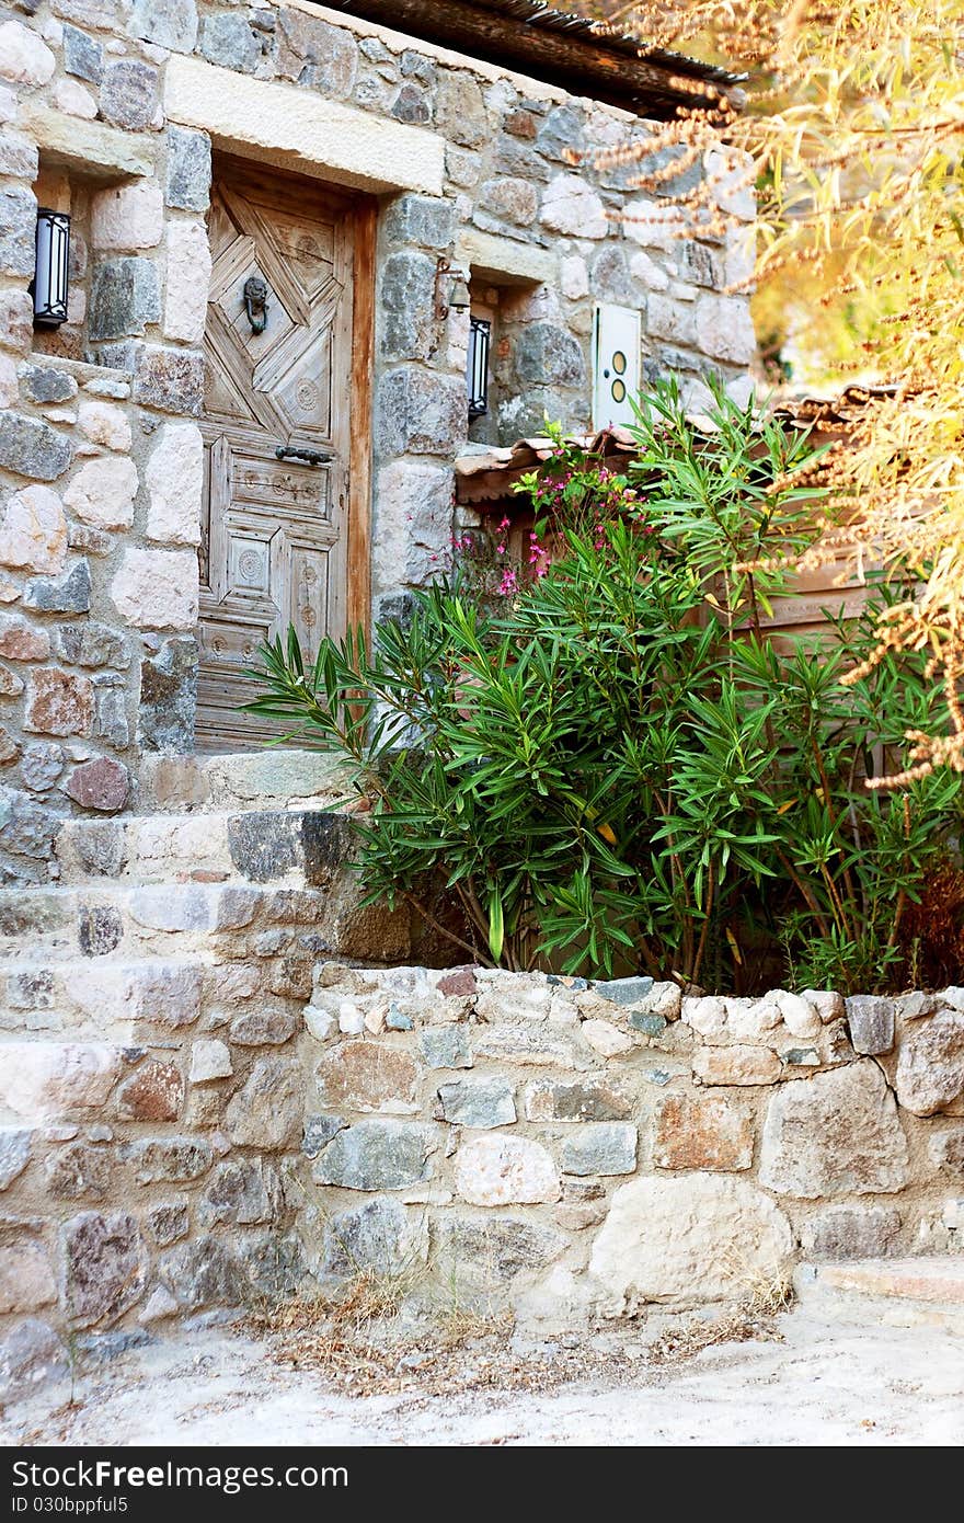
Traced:
[[305, 1328], [157, 1340], [8, 1409], [0, 1442], [163, 1447], [964, 1444], [964, 1337], [793, 1311], [761, 1336], [507, 1331], [390, 1351]]

